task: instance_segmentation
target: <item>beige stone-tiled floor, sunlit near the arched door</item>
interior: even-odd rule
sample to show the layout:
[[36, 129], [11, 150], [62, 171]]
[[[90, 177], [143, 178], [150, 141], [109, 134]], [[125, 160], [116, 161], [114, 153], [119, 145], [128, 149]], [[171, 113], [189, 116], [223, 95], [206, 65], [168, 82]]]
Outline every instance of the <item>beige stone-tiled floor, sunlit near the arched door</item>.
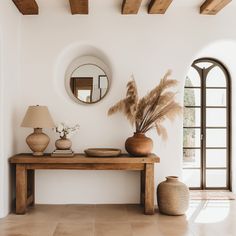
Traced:
[[236, 201], [191, 201], [184, 216], [138, 205], [36, 205], [0, 220], [0, 236], [236, 236]]

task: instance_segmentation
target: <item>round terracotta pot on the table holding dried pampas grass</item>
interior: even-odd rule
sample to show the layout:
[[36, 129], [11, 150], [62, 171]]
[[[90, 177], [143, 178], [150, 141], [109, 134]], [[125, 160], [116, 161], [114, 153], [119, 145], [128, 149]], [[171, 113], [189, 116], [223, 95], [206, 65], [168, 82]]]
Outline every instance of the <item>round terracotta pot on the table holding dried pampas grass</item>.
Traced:
[[148, 156], [153, 148], [153, 142], [144, 133], [134, 133], [125, 142], [126, 151], [132, 156]]

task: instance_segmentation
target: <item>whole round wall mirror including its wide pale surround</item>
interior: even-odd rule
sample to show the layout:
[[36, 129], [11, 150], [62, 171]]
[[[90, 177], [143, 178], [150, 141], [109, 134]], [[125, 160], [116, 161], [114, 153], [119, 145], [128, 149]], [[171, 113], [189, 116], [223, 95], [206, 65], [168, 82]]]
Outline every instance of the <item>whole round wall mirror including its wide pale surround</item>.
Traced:
[[79, 58], [68, 69], [66, 89], [76, 102], [99, 102], [109, 90], [109, 70], [95, 57]]

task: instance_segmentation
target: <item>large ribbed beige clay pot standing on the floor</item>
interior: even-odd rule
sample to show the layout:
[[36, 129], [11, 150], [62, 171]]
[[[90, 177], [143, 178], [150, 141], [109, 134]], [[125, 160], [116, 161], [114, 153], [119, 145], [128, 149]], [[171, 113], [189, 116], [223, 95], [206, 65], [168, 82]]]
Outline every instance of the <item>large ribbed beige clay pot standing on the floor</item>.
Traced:
[[189, 207], [189, 188], [177, 176], [168, 176], [157, 187], [157, 202], [160, 213], [183, 215]]

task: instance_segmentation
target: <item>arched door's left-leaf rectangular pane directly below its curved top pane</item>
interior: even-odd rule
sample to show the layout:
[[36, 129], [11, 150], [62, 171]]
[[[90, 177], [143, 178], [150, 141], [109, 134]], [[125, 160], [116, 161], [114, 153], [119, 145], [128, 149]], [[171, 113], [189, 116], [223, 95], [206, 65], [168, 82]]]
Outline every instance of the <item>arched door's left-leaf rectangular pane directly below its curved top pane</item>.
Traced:
[[201, 95], [200, 89], [184, 89], [184, 105], [185, 106], [200, 106]]

